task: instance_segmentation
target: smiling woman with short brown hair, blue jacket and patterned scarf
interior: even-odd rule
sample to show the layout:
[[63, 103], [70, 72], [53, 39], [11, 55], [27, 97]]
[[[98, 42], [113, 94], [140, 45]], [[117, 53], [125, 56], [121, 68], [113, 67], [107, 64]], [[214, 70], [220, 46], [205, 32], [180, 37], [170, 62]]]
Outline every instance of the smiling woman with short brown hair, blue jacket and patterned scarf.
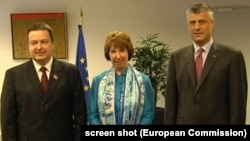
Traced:
[[154, 119], [154, 90], [147, 75], [129, 64], [134, 53], [130, 37], [108, 34], [104, 56], [112, 67], [92, 80], [89, 93], [90, 125], [150, 125]]

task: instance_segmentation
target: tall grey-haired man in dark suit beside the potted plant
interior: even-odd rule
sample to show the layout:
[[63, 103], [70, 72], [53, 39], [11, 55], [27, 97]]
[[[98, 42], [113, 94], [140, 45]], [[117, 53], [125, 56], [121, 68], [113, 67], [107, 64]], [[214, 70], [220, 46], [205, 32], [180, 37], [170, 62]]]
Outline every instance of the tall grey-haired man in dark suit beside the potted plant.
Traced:
[[193, 45], [171, 54], [165, 124], [245, 124], [247, 75], [241, 51], [213, 40], [213, 11], [206, 3], [192, 5], [186, 14]]

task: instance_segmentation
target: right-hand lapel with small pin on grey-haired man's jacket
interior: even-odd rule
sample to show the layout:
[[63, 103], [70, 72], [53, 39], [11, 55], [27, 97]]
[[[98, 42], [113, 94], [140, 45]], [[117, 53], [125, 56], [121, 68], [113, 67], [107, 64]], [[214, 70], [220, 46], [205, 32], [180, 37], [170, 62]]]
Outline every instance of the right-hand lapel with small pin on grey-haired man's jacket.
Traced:
[[200, 82], [197, 84], [195, 93], [197, 92], [199, 87], [202, 85], [202, 82], [205, 80], [208, 73], [211, 71], [215, 62], [219, 59], [220, 53], [221, 52], [219, 50], [219, 46], [217, 44], [213, 44], [210, 48], [208, 55], [207, 55], [207, 59], [206, 59], [206, 62], [204, 64], [204, 67], [203, 67], [203, 72], [201, 74]]

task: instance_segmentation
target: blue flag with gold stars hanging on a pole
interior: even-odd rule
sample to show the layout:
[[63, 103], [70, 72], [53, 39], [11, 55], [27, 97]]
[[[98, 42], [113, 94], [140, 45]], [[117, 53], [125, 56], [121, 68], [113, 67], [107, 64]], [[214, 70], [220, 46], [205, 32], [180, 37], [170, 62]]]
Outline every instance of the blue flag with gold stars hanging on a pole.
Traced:
[[84, 36], [82, 31], [82, 25], [78, 25], [78, 42], [77, 42], [77, 51], [76, 51], [76, 66], [78, 67], [82, 82], [83, 89], [85, 92], [86, 103], [88, 103], [89, 99], [89, 74], [88, 74], [88, 64], [87, 64], [87, 56], [85, 49]]

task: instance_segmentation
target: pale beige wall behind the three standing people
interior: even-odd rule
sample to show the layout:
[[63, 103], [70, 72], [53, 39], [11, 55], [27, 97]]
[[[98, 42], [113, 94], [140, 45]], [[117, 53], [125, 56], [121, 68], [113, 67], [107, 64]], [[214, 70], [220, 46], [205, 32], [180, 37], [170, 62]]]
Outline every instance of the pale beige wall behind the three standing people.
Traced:
[[[108, 32], [120, 30], [136, 41], [149, 33], [159, 33], [160, 40], [173, 50], [190, 44], [186, 29], [186, 8], [197, 0], [0, 0], [0, 86], [7, 68], [23, 63], [13, 60], [10, 13], [66, 12], [68, 32], [68, 59], [75, 63], [77, 24], [80, 8], [84, 13], [84, 36], [88, 57], [90, 81], [92, 77], [111, 66], [104, 58], [103, 44]], [[204, 0], [212, 6], [220, 6], [224, 0]], [[243, 0], [238, 0], [238, 3]], [[229, 1], [227, 4], [230, 5]], [[250, 9], [233, 13], [215, 13], [215, 40], [241, 49], [250, 74]], [[26, 35], [24, 35], [26, 36]], [[248, 82], [250, 83], [249, 77]], [[2, 88], [0, 87], [0, 91]], [[250, 98], [248, 97], [248, 101]], [[249, 102], [248, 102], [249, 103]], [[158, 103], [164, 106], [164, 101]], [[250, 104], [248, 104], [248, 111]], [[250, 123], [250, 113], [247, 113]]]

